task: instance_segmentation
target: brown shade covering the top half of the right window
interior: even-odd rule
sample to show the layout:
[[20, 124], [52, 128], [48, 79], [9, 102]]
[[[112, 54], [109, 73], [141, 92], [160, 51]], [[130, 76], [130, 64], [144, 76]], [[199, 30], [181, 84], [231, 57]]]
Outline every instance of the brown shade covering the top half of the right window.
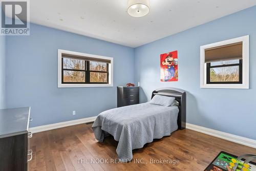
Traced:
[[243, 42], [205, 49], [205, 62], [242, 59]]

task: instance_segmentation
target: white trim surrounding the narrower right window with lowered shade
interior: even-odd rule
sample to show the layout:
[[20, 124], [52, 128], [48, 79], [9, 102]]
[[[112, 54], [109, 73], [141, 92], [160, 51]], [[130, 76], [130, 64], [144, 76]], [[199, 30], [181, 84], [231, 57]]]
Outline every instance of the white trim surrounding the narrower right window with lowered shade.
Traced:
[[[206, 83], [206, 63], [205, 49], [218, 46], [243, 42], [243, 65], [242, 65], [242, 84], [207, 84]], [[249, 35], [232, 38], [229, 40], [215, 42], [213, 44], [200, 47], [200, 88], [209, 89], [249, 89]]]

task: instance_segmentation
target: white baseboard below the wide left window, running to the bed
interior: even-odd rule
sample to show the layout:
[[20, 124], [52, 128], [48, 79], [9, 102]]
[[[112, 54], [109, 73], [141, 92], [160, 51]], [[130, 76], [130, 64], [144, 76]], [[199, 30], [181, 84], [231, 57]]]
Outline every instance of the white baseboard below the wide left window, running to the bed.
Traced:
[[29, 131], [32, 133], [39, 133], [39, 132], [43, 132], [43, 131], [58, 129], [60, 127], [72, 126], [72, 125], [77, 125], [77, 124], [81, 124], [81, 123], [89, 123], [89, 122], [95, 121], [96, 117], [97, 116], [93, 116], [90, 118], [76, 119], [76, 120], [71, 120], [71, 121], [66, 121], [66, 122], [59, 122], [59, 123], [53, 123], [53, 124], [48, 124], [48, 125], [30, 127]]

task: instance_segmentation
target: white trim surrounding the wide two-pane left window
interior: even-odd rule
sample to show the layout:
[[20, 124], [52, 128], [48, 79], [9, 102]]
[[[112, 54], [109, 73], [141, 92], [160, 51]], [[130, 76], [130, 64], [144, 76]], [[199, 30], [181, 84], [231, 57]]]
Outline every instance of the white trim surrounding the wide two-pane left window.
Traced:
[[[81, 57], [91, 57], [96, 59], [107, 59], [111, 62], [109, 63], [109, 83], [108, 84], [68, 84], [68, 83], [61, 83], [61, 59], [62, 59], [62, 53], [64, 54], [70, 54], [70, 55], [78, 55]], [[81, 88], [81, 87], [113, 87], [113, 57], [107, 57], [107, 56], [99, 56], [99, 55], [92, 55], [87, 53], [80, 53], [80, 52], [74, 52], [74, 51], [67, 51], [58, 49], [58, 88]]]

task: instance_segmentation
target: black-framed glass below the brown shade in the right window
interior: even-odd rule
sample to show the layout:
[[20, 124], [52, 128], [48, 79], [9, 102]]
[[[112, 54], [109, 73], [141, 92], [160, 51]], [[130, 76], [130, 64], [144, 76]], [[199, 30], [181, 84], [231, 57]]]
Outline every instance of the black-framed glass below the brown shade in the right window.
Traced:
[[242, 59], [208, 62], [207, 84], [242, 84]]

